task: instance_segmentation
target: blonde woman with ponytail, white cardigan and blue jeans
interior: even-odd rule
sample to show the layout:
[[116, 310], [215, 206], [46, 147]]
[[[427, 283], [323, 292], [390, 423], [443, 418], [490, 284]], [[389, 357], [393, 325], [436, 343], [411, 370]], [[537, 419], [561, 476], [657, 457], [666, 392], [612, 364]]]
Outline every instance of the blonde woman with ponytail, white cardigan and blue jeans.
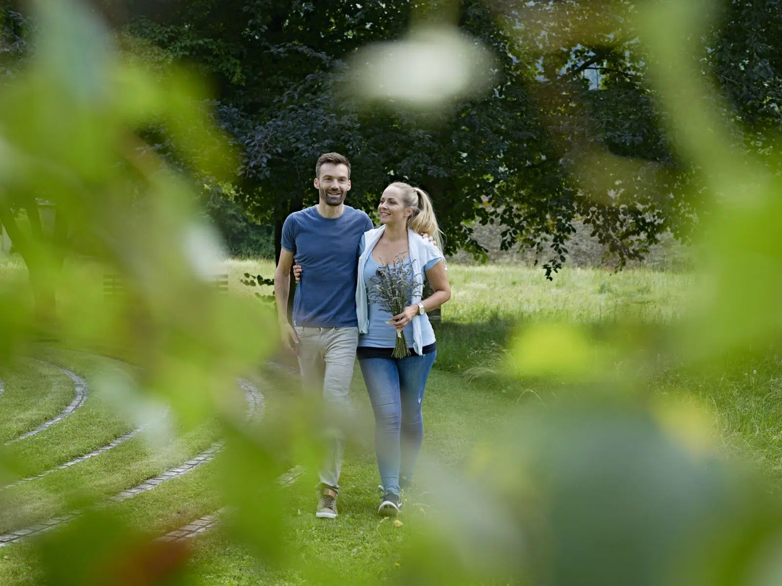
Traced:
[[[358, 260], [356, 307], [358, 360], [375, 412], [375, 452], [382, 481], [378, 513], [395, 516], [400, 489], [410, 483], [421, 450], [424, 423], [421, 404], [426, 380], [437, 356], [426, 313], [450, 299], [443, 253], [436, 242], [439, 227], [429, 195], [405, 183], [390, 184], [378, 205], [382, 226], [364, 233]], [[434, 242], [419, 234], [432, 234]], [[418, 293], [402, 313], [392, 316], [372, 302], [371, 281], [386, 263], [411, 263]], [[424, 279], [434, 291], [421, 299]], [[411, 354], [393, 358], [397, 330], [403, 330]]]

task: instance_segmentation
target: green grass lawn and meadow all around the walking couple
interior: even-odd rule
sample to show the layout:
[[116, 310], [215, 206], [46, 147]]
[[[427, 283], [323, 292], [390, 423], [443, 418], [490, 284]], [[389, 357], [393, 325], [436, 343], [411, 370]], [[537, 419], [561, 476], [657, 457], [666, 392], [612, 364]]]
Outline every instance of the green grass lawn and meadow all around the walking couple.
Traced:
[[[0, 266], [0, 274], [13, 273]], [[226, 265], [231, 291], [248, 295], [271, 288], [250, 289], [239, 284], [243, 273], [271, 277], [270, 262], [231, 261]], [[515, 327], [542, 320], [557, 320], [604, 327], [627, 319], [651, 327], [676, 323], [687, 305], [692, 277], [683, 274], [629, 270], [565, 269], [548, 282], [543, 271], [510, 265], [452, 265], [449, 277], [453, 300], [443, 308], [443, 323], [436, 325], [438, 359], [429, 380], [424, 403], [425, 452], [458, 470], [469, 456], [491, 441], [494, 432], [517, 409], [529, 402], [553, 402], [553, 381], [468, 381], [465, 370], [485, 360], [482, 349], [503, 345]], [[75, 352], [52, 351], [46, 359], [66, 366], [91, 380], [101, 359]], [[691, 400], [705, 406], [715, 421], [716, 437], [727, 455], [748, 454], [779, 488], [782, 486], [782, 361], [769, 352], [765, 359], [747, 359], [722, 365], [711, 373], [693, 373], [676, 365], [663, 365], [639, 378], [655, 395]], [[25, 431], [45, 413], [57, 413], [72, 394], [72, 384], [56, 371], [31, 368], [30, 363], [6, 367], [0, 373], [6, 392], [0, 398], [0, 433], [12, 437]], [[62, 378], [62, 380], [61, 380]], [[53, 382], [61, 395], [51, 393]], [[271, 382], [270, 382], [271, 381]], [[296, 377], [276, 373], [256, 377], [266, 396], [266, 417], [280, 413]], [[24, 392], [21, 390], [25, 389]], [[353, 397], [368, 415], [368, 398], [357, 369]], [[533, 391], [533, 393], [529, 392]], [[16, 397], [16, 398], [14, 398]], [[13, 403], [16, 401], [16, 403]], [[13, 407], [9, 407], [12, 406]], [[3, 409], [6, 409], [5, 411]], [[111, 413], [93, 390], [83, 413], [72, 416], [41, 434], [38, 441], [20, 442], [4, 452], [20, 460], [19, 473], [34, 473], [84, 453], [131, 428]], [[5, 414], [5, 415], [4, 415]], [[25, 423], [7, 427], [9, 417]], [[67, 424], [66, 424], [67, 423]], [[6, 427], [4, 427], [6, 426]], [[97, 456], [69, 470], [60, 470], [0, 492], [0, 533], [23, 523], [45, 520], [61, 511], [99, 501], [203, 450], [217, 438], [217, 427], [202, 428], [153, 447], [143, 438]], [[218, 456], [218, 459], [221, 456]], [[184, 477], [160, 484], [111, 510], [137, 531], [164, 534], [222, 506], [219, 462], [206, 464]], [[293, 465], [295, 463], [291, 463]], [[408, 494], [404, 525], [395, 527], [375, 514], [378, 472], [370, 441], [353, 442], [346, 450], [341, 478], [338, 519], [314, 517], [314, 471], [285, 488], [286, 561], [282, 567], [262, 566], [246, 548], [215, 530], [195, 541], [188, 561], [188, 581], [194, 584], [335, 584], [393, 580], [403, 563], [404, 544], [425, 515], [426, 495], [415, 488]], [[86, 490], [84, 490], [86, 488]], [[420, 504], [421, 506], [417, 506]], [[0, 549], [0, 584], [37, 584], [41, 570], [30, 545]]]

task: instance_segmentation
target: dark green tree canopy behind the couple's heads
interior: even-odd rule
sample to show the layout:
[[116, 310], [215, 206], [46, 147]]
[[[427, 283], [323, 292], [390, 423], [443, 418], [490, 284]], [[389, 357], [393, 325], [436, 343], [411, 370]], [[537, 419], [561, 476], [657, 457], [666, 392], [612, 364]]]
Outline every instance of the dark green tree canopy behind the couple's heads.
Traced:
[[[481, 252], [469, 224], [499, 223], [504, 247], [538, 247], [548, 271], [576, 220], [624, 263], [667, 230], [686, 239], [701, 212], [698, 170], [667, 135], [626, 0], [127, 0], [103, 10], [161, 77], [188, 63], [211, 80], [217, 122], [242, 153], [231, 197], [275, 225], [277, 244], [285, 216], [314, 202], [314, 161], [327, 151], [353, 162], [352, 205], [371, 211], [392, 180], [419, 184], [447, 252]], [[438, 17], [490, 49], [490, 88], [436, 112], [346, 97], [359, 48]], [[701, 70], [743, 129], [737, 145], [762, 155], [780, 125], [780, 8], [728, 2], [718, 22]]]

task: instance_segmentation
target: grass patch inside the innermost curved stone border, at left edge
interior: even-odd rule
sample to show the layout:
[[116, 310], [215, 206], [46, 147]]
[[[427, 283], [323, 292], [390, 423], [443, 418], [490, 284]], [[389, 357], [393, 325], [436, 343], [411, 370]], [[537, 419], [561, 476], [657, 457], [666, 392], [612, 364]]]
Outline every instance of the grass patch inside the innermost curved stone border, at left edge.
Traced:
[[31, 360], [0, 367], [0, 378], [5, 382], [0, 396], [0, 445], [53, 419], [76, 396], [69, 377]]

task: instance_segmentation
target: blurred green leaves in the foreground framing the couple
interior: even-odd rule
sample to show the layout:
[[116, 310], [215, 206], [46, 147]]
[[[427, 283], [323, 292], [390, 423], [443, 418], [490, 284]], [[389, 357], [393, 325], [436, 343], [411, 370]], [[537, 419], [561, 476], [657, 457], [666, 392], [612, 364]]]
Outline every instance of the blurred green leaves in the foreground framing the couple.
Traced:
[[[78, 2], [36, 6], [36, 52], [0, 89], [0, 220], [34, 294], [30, 306], [19, 283], [0, 292], [2, 359], [32, 352], [41, 338], [119, 353], [140, 367], [122, 401], [150, 395], [191, 429], [217, 416], [227, 438], [218, 488], [231, 506], [228, 535], [264, 563], [289, 563], [274, 479], [286, 458], [316, 461], [317, 415], [296, 400], [260, 430], [237, 415], [234, 377], [271, 350], [276, 334], [259, 304], [220, 298], [210, 284], [220, 245], [196, 220], [193, 186], [228, 178], [232, 153], [190, 77], [153, 83]], [[708, 7], [648, 2], [639, 20], [669, 130], [704, 170], [713, 202], [703, 297], [686, 327], [655, 343], [705, 364], [769, 345], [782, 324], [778, 178], [731, 149], [730, 130], [710, 116], [709, 90], [691, 69], [688, 39], [708, 23]], [[552, 19], [559, 9], [552, 4]], [[398, 73], [398, 61], [377, 63]], [[173, 138], [186, 172], [170, 170], [142, 141], [152, 126]], [[54, 210], [51, 225], [41, 220], [44, 204]], [[127, 295], [106, 300], [103, 273], [120, 275]], [[68, 300], [67, 312], [56, 299]], [[575, 398], [522, 409], [467, 470], [421, 463], [432, 503], [408, 534], [400, 583], [779, 583], [780, 503], [755, 473], [716, 456], [697, 406], [661, 405], [643, 392], [637, 372], [648, 364], [637, 357], [651, 338], [617, 327], [598, 345], [543, 323], [511, 345], [509, 376], [551, 377]], [[630, 366], [618, 377], [615, 363]], [[621, 392], [605, 392], [615, 387]], [[357, 424], [357, 439], [367, 438], [365, 427]], [[50, 584], [120, 581], [133, 559], [160, 569], [132, 574], [138, 581], [164, 581], [186, 556], [142, 543], [109, 508], [46, 536], [37, 551]], [[328, 581], [328, 570], [305, 570]]]

